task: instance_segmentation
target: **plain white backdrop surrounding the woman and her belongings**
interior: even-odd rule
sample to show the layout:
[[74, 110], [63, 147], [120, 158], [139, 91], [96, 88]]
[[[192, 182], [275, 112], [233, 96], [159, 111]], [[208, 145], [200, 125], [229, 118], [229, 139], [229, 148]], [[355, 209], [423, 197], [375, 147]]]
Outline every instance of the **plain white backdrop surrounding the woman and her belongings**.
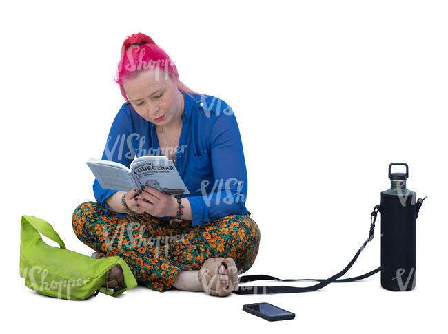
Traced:
[[[15, 1], [1, 7], [2, 327], [412, 333], [445, 326], [444, 1]], [[124, 103], [113, 77], [121, 44], [136, 32], [172, 57], [185, 85], [234, 109], [249, 176], [246, 206], [261, 229], [247, 275], [327, 278], [342, 270], [368, 236], [369, 215], [389, 188], [389, 163], [406, 162], [407, 186], [428, 195], [417, 220], [416, 289], [382, 289], [379, 273], [317, 292], [259, 297], [137, 286], [118, 298], [100, 293], [74, 302], [26, 288], [19, 276], [21, 215], [50, 222], [68, 249], [92, 253], [74, 235], [71, 217], [81, 202], [94, 200], [85, 161], [101, 158]], [[344, 277], [379, 266], [380, 219], [373, 242]], [[267, 322], [242, 311], [254, 302], [296, 318]]]

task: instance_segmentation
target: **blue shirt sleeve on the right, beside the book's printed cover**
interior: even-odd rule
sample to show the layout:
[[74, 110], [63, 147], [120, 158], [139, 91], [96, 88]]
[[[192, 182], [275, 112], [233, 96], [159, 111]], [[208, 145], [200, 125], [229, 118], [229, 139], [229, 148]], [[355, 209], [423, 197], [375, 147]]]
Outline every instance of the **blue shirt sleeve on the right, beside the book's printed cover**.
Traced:
[[210, 131], [210, 158], [216, 189], [207, 196], [187, 197], [192, 225], [242, 214], [247, 196], [247, 170], [236, 117], [230, 107], [216, 117]]

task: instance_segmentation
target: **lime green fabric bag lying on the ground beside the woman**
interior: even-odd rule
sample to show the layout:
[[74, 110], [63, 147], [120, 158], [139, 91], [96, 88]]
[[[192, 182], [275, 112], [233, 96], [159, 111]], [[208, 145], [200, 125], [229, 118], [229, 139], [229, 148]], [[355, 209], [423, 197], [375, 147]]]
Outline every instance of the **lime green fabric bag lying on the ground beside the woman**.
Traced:
[[[59, 244], [46, 244], [39, 233]], [[119, 295], [137, 286], [128, 264], [119, 256], [94, 259], [65, 249], [52, 225], [34, 216], [22, 216], [20, 236], [20, 275], [28, 288], [56, 298], [85, 300], [98, 292]], [[106, 273], [120, 264], [125, 283], [106, 289]]]

